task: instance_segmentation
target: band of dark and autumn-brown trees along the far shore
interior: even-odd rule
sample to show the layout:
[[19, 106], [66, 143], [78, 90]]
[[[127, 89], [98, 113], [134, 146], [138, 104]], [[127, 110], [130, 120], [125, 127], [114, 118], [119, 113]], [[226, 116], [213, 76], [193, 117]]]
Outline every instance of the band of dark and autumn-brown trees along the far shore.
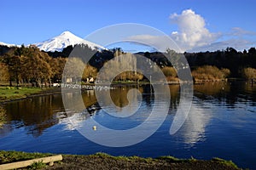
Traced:
[[[85, 50], [85, 54], [92, 56], [88, 63], [82, 59], [74, 62], [74, 65], [84, 65], [82, 82], [88, 82], [91, 77], [95, 79], [97, 72], [108, 60], [125, 54], [121, 48], [98, 51], [84, 44], [75, 47]], [[9, 86], [17, 87], [24, 84], [29, 84], [32, 87], [44, 87], [52, 86], [53, 82], [61, 82], [63, 68], [75, 47], [68, 46], [61, 52], [44, 52], [33, 45], [12, 48], [0, 46], [0, 82], [9, 82]], [[159, 66], [167, 81], [178, 82], [177, 68], [172, 66], [166, 56], [175, 60], [181, 54], [177, 54], [172, 49], [167, 49], [165, 53], [140, 52], [137, 54], [143, 55], [149, 59], [149, 62]], [[235, 48], [226, 48], [215, 52], [184, 53], [183, 55], [188, 60], [195, 81], [220, 81], [227, 78], [252, 81], [256, 79], [255, 48], [249, 48], [243, 52], [236, 51]], [[126, 63], [131, 63], [131, 61], [127, 60]], [[118, 69], [122, 67], [122, 64], [116, 62], [112, 66]], [[75, 71], [75, 69], [74, 67], [73, 70]], [[72, 73], [70, 75], [72, 77]], [[140, 82], [148, 80], [139, 71], [126, 71], [115, 77], [114, 81]]]

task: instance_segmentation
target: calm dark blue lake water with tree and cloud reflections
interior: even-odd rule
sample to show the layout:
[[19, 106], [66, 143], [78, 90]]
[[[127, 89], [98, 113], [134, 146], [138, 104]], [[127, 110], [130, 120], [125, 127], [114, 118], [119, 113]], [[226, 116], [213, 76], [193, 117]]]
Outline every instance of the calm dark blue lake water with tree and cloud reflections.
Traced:
[[[90, 119], [113, 129], [136, 127], [147, 118], [154, 104], [149, 86], [123, 86], [110, 89], [113, 103], [120, 108], [128, 104], [127, 92], [138, 88], [143, 94], [139, 114], [121, 120], [99, 107], [93, 90], [83, 91]], [[106, 93], [106, 90], [102, 93]], [[108, 91], [108, 90], [107, 90]], [[171, 85], [171, 105], [166, 121], [148, 139], [127, 147], [107, 147], [85, 139], [64, 110], [61, 94], [51, 94], [15, 101], [5, 105], [7, 123], [0, 129], [0, 150], [94, 154], [113, 156], [176, 156], [178, 158], [211, 159], [220, 157], [234, 161], [239, 167], [256, 169], [256, 84], [247, 82], [209, 82], [194, 86], [189, 117], [177, 133], [169, 130], [179, 105], [179, 86]], [[107, 102], [108, 103], [108, 102]], [[111, 108], [110, 108], [111, 109]], [[104, 139], [102, 139], [104, 140]], [[114, 137], [113, 137], [114, 140]]]

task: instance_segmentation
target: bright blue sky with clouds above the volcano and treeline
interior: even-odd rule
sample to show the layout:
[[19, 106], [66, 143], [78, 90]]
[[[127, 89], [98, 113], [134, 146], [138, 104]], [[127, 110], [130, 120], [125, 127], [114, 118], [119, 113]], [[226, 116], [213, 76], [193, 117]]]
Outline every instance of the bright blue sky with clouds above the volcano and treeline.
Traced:
[[[129, 22], [165, 32], [186, 51], [241, 50], [256, 44], [255, 7], [254, 0], [2, 0], [0, 42], [42, 42], [63, 31], [85, 37]], [[191, 24], [202, 26], [189, 31]]]

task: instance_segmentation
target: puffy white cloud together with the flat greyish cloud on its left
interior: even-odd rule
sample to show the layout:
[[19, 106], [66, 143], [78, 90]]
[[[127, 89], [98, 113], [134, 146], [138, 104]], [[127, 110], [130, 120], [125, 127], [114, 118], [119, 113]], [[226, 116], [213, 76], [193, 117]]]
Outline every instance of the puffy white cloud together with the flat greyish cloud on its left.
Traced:
[[178, 31], [172, 31], [170, 36], [174, 41], [172, 47], [167, 47], [166, 38], [160, 36], [137, 35], [129, 37], [129, 39], [137, 42], [147, 41], [149, 45], [160, 47], [161, 51], [166, 51], [166, 48], [172, 48], [176, 51], [184, 52], [192, 48], [209, 45], [220, 37], [219, 33], [208, 31], [205, 20], [191, 9], [183, 10], [182, 14], [171, 14], [170, 20], [178, 26]]

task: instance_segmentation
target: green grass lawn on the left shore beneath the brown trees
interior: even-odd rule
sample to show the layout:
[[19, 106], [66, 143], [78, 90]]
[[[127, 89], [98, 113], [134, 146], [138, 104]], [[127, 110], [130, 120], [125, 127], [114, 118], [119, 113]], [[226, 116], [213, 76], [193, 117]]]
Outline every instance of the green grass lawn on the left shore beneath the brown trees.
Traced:
[[42, 88], [0, 87], [0, 101], [26, 98], [27, 95], [37, 94], [42, 90]]

